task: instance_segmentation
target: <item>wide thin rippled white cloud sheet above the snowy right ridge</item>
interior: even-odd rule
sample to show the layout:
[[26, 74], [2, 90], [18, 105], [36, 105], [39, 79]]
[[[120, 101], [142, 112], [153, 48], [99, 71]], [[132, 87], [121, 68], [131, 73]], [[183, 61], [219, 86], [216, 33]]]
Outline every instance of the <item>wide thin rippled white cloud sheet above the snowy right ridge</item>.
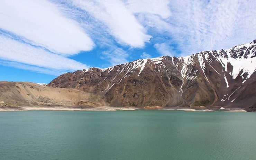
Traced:
[[177, 46], [172, 48], [175, 55], [230, 48], [256, 37], [254, 0], [125, 0], [125, 3], [150, 35], [163, 37], [155, 43]]

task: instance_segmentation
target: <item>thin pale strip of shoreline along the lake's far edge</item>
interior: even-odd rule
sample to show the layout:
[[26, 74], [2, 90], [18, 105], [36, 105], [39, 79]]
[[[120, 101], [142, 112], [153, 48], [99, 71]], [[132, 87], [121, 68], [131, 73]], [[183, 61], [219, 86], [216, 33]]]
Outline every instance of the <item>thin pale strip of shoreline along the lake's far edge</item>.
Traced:
[[[0, 107], [0, 112], [7, 111], [136, 111], [136, 110], [152, 110], [138, 107], [111, 107], [111, 106], [4, 106]], [[244, 109], [204, 109], [195, 110], [191, 108], [159, 108], [153, 110], [177, 110], [184, 112], [247, 112]]]

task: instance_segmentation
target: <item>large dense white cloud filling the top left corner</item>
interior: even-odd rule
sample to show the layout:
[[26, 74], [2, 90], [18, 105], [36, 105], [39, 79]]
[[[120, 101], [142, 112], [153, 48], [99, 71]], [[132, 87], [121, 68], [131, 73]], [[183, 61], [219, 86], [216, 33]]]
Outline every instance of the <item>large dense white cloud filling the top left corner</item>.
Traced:
[[77, 54], [94, 46], [77, 22], [47, 0], [1, 0], [0, 28], [60, 54]]

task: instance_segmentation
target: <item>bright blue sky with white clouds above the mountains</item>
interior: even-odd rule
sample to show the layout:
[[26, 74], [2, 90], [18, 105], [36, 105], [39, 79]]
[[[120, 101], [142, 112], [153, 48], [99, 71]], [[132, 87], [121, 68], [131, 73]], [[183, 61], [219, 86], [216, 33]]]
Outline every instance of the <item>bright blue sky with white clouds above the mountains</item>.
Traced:
[[255, 0], [1, 0], [0, 81], [188, 56], [256, 39]]

